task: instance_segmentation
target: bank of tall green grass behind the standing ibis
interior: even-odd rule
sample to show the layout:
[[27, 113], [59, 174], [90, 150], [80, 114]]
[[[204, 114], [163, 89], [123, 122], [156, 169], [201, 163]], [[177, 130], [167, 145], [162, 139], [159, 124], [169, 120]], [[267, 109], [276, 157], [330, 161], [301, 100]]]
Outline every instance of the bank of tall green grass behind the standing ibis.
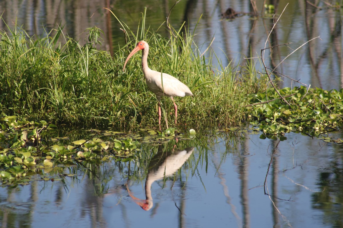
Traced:
[[[88, 43], [81, 46], [64, 36], [62, 28], [38, 38], [29, 37], [19, 26], [8, 26], [9, 32], [0, 32], [2, 115], [120, 131], [158, 127], [157, 102], [145, 84], [141, 54], [132, 57], [122, 72], [128, 53], [145, 40], [151, 47], [150, 68], [173, 75], [194, 94], [176, 98], [178, 128], [225, 128], [244, 121], [246, 95], [265, 87], [253, 72], [253, 63], [239, 71], [239, 78], [238, 69], [230, 65], [215, 69], [208, 64], [215, 53], [209, 49], [210, 57], [201, 55], [193, 42], [195, 31], [184, 34], [181, 27], [164, 38], [147, 28], [144, 15], [137, 33], [121, 22], [127, 44], [113, 57], [96, 48], [103, 35], [96, 27], [87, 29]], [[175, 127], [169, 98], [162, 98], [162, 108], [169, 127]]]

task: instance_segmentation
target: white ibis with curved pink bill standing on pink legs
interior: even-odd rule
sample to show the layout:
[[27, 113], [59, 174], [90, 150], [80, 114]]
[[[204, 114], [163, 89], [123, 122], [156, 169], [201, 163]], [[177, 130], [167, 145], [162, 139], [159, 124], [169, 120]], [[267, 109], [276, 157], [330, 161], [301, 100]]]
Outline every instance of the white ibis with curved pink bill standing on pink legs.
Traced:
[[177, 78], [174, 78], [167, 73], [162, 73], [162, 80], [161, 80], [161, 72], [152, 70], [148, 66], [147, 58], [149, 53], [149, 45], [144, 40], [139, 41], [137, 46], [132, 50], [129, 56], [126, 58], [123, 71], [125, 70], [125, 66], [131, 58], [139, 50], [142, 50], [142, 69], [144, 73], [144, 78], [147, 86], [149, 87], [150, 91], [156, 95], [157, 103], [158, 103], [158, 125], [159, 130], [161, 130], [161, 97], [168, 96], [174, 102], [174, 109], [175, 109], [175, 124], [177, 118], [177, 106], [175, 104], [174, 98], [175, 96], [184, 97], [184, 96], [193, 96], [193, 93], [190, 91], [187, 85], [180, 82]]

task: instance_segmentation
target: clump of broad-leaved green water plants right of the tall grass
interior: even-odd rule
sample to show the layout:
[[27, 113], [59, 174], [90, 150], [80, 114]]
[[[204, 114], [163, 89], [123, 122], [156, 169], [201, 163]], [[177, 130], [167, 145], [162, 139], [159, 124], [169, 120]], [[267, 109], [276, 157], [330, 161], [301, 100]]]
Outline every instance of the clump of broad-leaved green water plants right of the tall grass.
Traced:
[[342, 126], [343, 89], [326, 91], [300, 86], [279, 92], [290, 105], [285, 104], [274, 89], [251, 95], [247, 115], [250, 123], [264, 133], [261, 137], [291, 131], [318, 137]]

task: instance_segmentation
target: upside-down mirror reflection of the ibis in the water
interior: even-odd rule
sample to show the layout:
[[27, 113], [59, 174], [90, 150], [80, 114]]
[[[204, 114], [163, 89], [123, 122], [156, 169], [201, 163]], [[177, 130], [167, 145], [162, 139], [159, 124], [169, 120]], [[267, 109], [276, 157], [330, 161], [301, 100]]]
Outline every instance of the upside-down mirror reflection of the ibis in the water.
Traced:
[[187, 147], [184, 150], [173, 150], [171, 152], [163, 152], [162, 146], [158, 146], [157, 154], [149, 163], [148, 174], [145, 180], [145, 197], [146, 200], [141, 200], [133, 196], [129, 192], [130, 197], [142, 207], [145, 211], [149, 211], [153, 206], [153, 199], [151, 196], [151, 185], [158, 179], [173, 175], [180, 167], [187, 161], [192, 154], [194, 147]]

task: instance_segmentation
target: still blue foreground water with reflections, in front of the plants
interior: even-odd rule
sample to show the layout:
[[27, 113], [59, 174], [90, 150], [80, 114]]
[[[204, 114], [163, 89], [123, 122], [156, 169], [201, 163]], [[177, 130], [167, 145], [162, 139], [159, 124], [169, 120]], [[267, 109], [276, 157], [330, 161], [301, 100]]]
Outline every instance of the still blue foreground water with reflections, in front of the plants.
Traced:
[[[170, 142], [149, 165], [77, 166], [62, 180], [3, 187], [2, 227], [341, 226], [340, 145], [295, 133], [282, 142], [244, 136], [235, 145], [225, 134], [209, 137], [206, 148]], [[147, 174], [137, 175], [144, 165]]]

